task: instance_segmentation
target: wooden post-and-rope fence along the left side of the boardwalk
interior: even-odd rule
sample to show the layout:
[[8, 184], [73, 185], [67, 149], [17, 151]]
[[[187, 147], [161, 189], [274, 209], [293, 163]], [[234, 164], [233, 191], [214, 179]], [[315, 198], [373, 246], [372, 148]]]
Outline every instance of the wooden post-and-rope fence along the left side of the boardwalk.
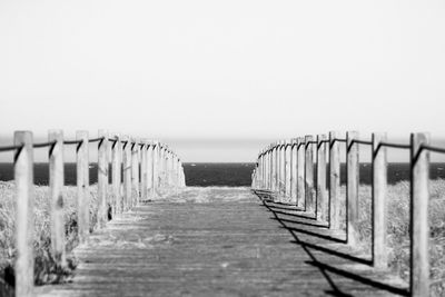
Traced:
[[[0, 147], [0, 151], [14, 151], [16, 296], [32, 296], [33, 290], [33, 149], [49, 150], [51, 250], [57, 265], [61, 267], [67, 265], [63, 221], [65, 146], [76, 146], [80, 242], [90, 232], [89, 143], [98, 143], [98, 228], [105, 227], [110, 214], [113, 217], [129, 210], [140, 201], [156, 196], [162, 188], [186, 186], [180, 159], [167, 145], [158, 141], [109, 135], [105, 130], [99, 130], [98, 137], [92, 139], [88, 137], [88, 131], [78, 131], [76, 140], [63, 140], [61, 130], [50, 130], [48, 142], [43, 143], [34, 143], [31, 131], [16, 131], [13, 139], [12, 146]], [[109, 148], [111, 160], [108, 158]]]

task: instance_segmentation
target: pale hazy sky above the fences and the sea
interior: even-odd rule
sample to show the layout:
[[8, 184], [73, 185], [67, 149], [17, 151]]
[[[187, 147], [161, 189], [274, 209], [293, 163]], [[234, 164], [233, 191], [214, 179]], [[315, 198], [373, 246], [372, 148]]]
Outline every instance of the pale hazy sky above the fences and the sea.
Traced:
[[333, 129], [444, 137], [445, 1], [0, 0], [0, 100], [3, 139], [107, 128], [186, 161]]

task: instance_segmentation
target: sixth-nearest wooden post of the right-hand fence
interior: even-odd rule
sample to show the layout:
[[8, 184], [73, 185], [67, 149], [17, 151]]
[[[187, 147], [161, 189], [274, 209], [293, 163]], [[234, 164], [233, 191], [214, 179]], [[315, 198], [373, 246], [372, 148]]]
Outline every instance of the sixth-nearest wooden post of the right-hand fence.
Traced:
[[314, 145], [313, 136], [307, 135], [305, 137], [305, 192], [306, 192], [306, 206], [305, 210], [315, 214], [315, 201], [314, 201]]

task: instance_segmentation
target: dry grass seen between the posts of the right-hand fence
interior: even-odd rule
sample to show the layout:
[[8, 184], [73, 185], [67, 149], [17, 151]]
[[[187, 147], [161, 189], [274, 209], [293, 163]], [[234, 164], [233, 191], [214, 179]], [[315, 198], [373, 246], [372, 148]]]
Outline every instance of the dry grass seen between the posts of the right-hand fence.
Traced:
[[[342, 197], [345, 197], [342, 187]], [[432, 296], [445, 296], [445, 180], [429, 182], [429, 263]], [[369, 253], [372, 244], [370, 186], [359, 187], [360, 247]], [[388, 186], [388, 256], [389, 268], [409, 280], [409, 182]], [[345, 201], [343, 200], [343, 205]], [[345, 210], [344, 207], [342, 207]], [[345, 214], [342, 214], [344, 217]]]

